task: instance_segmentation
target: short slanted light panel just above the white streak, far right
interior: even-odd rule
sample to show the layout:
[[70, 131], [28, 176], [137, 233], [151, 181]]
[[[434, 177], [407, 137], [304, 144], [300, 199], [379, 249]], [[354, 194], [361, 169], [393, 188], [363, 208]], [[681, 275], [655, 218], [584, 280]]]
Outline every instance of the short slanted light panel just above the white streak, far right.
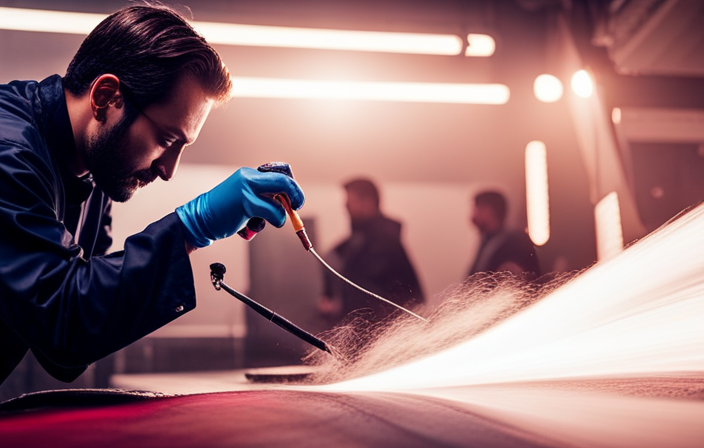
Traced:
[[606, 260], [623, 250], [621, 207], [615, 191], [607, 194], [594, 207], [596, 221], [596, 253], [599, 261]]

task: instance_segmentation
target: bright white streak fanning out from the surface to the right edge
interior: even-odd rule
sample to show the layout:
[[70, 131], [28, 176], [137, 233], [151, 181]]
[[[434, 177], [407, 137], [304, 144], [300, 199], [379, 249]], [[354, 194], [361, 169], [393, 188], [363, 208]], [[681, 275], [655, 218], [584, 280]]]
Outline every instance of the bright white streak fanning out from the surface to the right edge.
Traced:
[[325, 387], [420, 391], [702, 372], [702, 272], [699, 206], [468, 342]]

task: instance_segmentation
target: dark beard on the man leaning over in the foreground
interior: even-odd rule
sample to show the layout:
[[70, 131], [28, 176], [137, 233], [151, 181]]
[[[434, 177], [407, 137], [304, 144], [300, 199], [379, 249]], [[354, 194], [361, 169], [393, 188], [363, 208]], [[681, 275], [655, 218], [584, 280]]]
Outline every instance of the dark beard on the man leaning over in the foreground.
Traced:
[[151, 168], [133, 171], [130, 161], [124, 158], [129, 129], [136, 118], [136, 113], [125, 111], [112, 128], [89, 138], [83, 154], [95, 184], [115, 202], [127, 201], [157, 177]]

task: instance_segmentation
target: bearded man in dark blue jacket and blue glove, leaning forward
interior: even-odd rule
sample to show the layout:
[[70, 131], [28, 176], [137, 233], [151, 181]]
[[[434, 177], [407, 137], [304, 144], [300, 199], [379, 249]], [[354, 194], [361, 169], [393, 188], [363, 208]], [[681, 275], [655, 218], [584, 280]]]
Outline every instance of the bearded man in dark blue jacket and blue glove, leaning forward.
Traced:
[[190, 252], [254, 217], [282, 226], [273, 194], [302, 206], [292, 178], [242, 168], [106, 255], [111, 202], [173, 177], [231, 89], [188, 22], [148, 4], [100, 23], [63, 78], [0, 85], [0, 382], [28, 350], [74, 380], [195, 307]]

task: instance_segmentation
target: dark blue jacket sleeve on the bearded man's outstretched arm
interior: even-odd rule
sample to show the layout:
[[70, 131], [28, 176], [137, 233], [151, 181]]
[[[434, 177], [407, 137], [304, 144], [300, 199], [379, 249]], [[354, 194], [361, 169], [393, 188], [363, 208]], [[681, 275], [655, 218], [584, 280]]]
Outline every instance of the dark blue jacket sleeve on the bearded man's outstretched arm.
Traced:
[[175, 213], [123, 251], [84, 259], [57, 217], [47, 162], [0, 141], [0, 166], [0, 319], [49, 373], [80, 371], [195, 308]]

